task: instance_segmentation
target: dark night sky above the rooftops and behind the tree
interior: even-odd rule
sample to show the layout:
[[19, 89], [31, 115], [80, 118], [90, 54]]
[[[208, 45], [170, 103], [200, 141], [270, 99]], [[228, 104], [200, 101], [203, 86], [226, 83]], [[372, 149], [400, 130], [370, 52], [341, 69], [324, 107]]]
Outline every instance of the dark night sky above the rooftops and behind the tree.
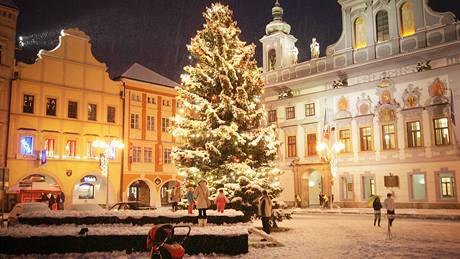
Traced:
[[[422, 0], [419, 0], [422, 1]], [[61, 29], [78, 27], [92, 39], [93, 54], [109, 67], [112, 77], [138, 62], [174, 81], [188, 63], [186, 44], [202, 28], [202, 12], [211, 0], [15, 0], [19, 7], [18, 35], [26, 44], [17, 53], [33, 62], [40, 49], [52, 49]], [[274, 0], [221, 0], [234, 12], [241, 38], [256, 43], [261, 65], [265, 25], [272, 20]], [[341, 33], [337, 0], [280, 0], [284, 20], [297, 39], [299, 61], [309, 56], [312, 37], [321, 53]], [[459, 0], [430, 0], [435, 10], [453, 11], [460, 17]]]

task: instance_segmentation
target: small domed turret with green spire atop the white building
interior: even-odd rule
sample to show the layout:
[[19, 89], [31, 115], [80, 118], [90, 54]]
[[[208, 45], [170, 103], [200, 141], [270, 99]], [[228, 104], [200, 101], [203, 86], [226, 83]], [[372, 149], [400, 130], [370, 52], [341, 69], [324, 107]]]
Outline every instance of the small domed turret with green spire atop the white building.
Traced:
[[297, 62], [297, 39], [289, 34], [291, 26], [283, 21], [283, 8], [278, 0], [272, 8], [272, 15], [273, 21], [267, 24], [266, 34], [260, 39], [264, 71], [287, 67]]

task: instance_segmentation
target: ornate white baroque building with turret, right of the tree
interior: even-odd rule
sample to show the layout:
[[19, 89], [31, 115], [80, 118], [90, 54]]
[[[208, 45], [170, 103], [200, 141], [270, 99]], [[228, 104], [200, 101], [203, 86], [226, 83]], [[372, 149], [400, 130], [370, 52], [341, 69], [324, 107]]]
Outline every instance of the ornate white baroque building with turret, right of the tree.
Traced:
[[460, 22], [427, 0], [338, 3], [325, 56], [313, 42], [297, 63], [278, 1], [260, 40], [284, 199], [351, 207], [394, 192], [400, 207], [460, 208]]

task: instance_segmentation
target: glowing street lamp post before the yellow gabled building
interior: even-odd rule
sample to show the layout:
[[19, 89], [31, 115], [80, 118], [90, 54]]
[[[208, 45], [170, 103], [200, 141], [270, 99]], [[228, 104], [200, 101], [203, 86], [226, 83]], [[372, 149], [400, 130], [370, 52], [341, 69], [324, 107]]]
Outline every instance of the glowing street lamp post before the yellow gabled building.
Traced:
[[[101, 168], [102, 175], [106, 177], [106, 194], [105, 194], [105, 207], [109, 208], [109, 160], [110, 152], [116, 149], [123, 149], [125, 145], [121, 140], [113, 139], [110, 142], [96, 140], [92, 143], [92, 146], [102, 150], [99, 155], [99, 167]], [[113, 154], [115, 156], [115, 154]]]

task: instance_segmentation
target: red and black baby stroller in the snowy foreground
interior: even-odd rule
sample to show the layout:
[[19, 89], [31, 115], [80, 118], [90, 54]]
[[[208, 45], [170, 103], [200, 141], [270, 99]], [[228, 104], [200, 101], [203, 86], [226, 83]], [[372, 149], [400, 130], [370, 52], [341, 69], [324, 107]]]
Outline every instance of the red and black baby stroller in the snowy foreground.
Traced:
[[[174, 229], [187, 228], [185, 237], [177, 242], [174, 236]], [[190, 235], [190, 226], [159, 225], [153, 226], [147, 235], [147, 249], [150, 250], [150, 257], [155, 259], [181, 259], [185, 255], [182, 244]]]

